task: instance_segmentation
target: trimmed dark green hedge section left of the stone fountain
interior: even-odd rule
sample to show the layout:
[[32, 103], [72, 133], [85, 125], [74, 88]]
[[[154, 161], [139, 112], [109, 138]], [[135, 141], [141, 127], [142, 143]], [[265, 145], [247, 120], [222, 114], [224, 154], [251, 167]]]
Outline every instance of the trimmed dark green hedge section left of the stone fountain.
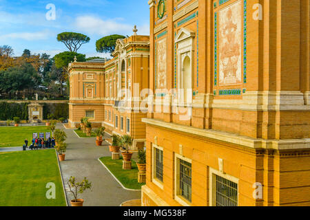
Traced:
[[13, 120], [14, 117], [28, 120], [28, 104], [0, 102], [0, 120]]

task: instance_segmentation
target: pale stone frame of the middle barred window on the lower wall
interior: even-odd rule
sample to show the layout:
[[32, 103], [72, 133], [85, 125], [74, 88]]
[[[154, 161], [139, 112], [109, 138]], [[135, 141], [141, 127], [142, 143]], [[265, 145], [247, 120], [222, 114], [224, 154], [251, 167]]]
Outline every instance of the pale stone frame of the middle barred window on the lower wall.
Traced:
[[187, 157], [183, 157], [182, 155], [179, 155], [178, 153], [174, 153], [174, 199], [180, 203], [182, 206], [192, 206], [192, 203], [190, 201], [187, 201], [185, 198], [180, 196], [180, 159], [189, 162], [189, 164], [192, 164], [192, 159], [189, 159]]

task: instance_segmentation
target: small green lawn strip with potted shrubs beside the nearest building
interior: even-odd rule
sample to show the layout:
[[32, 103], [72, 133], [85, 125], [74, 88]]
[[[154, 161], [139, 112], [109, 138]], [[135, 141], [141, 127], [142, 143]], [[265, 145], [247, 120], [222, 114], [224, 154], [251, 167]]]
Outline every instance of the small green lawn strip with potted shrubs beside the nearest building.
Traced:
[[145, 185], [138, 183], [138, 167], [134, 160], [132, 160], [132, 170], [123, 170], [122, 157], [117, 160], [113, 160], [111, 157], [101, 157], [100, 160], [126, 188], [141, 190], [141, 186]]

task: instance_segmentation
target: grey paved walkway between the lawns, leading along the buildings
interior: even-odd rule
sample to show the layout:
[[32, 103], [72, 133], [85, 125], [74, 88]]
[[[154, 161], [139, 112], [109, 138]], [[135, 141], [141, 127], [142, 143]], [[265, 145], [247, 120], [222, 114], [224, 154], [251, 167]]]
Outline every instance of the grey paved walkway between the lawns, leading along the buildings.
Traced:
[[[70, 176], [79, 180], [87, 177], [92, 181], [92, 191], [81, 196], [85, 200], [84, 206], [120, 206], [124, 201], [141, 198], [141, 191], [123, 189], [98, 161], [99, 157], [111, 156], [107, 142], [103, 142], [105, 146], [96, 146], [96, 138], [79, 138], [73, 130], [65, 129], [62, 124], [57, 124], [57, 128], [63, 129], [68, 136], [66, 160], [61, 162], [65, 187]], [[72, 193], [67, 192], [67, 197], [70, 203]]]

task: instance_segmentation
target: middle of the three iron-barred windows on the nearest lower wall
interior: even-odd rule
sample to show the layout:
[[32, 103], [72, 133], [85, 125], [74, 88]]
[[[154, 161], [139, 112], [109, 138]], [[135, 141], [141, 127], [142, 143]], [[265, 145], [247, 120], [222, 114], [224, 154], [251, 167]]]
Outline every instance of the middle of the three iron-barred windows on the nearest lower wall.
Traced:
[[180, 195], [192, 202], [192, 164], [180, 159]]

